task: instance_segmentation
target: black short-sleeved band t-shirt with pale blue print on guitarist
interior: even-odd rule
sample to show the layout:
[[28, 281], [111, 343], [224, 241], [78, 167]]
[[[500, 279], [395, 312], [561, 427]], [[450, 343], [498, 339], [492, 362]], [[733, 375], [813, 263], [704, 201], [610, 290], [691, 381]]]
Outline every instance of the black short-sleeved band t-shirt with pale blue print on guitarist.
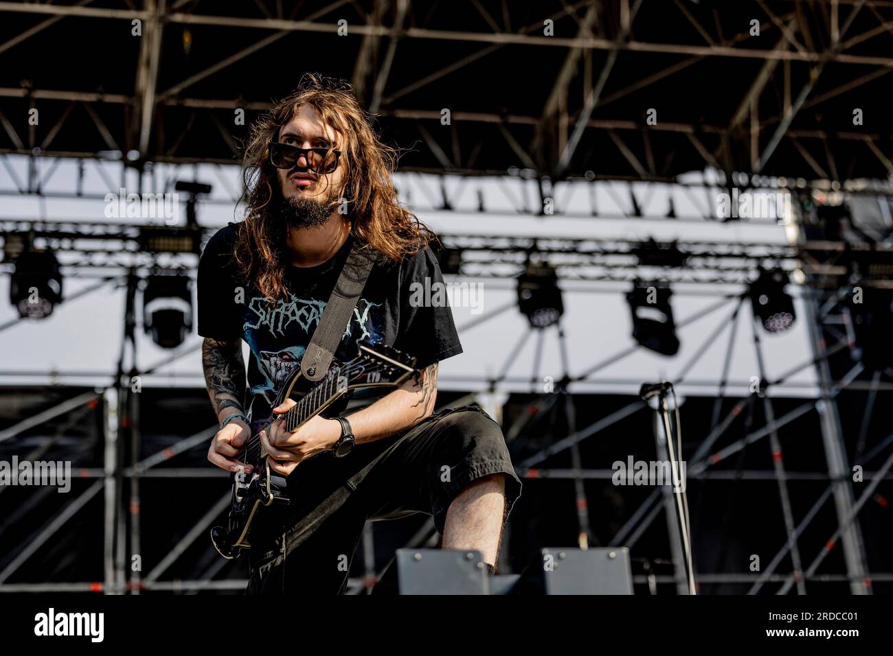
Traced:
[[[256, 420], [269, 416], [270, 403], [283, 381], [300, 366], [354, 237], [348, 237], [338, 253], [318, 266], [287, 266], [287, 297], [271, 305], [238, 275], [233, 258], [237, 232], [238, 225], [230, 223], [204, 248], [198, 264], [198, 334], [221, 342], [246, 341], [251, 351], [248, 402]], [[345, 333], [331, 366], [355, 357], [358, 344], [365, 340], [381, 340], [415, 356], [420, 370], [462, 353], [447, 304], [415, 307], [410, 303], [410, 286], [416, 281], [424, 286], [425, 278], [431, 285], [443, 282], [430, 248], [401, 262], [377, 262], [356, 303], [350, 333]], [[372, 389], [363, 396], [367, 403], [389, 391]]]

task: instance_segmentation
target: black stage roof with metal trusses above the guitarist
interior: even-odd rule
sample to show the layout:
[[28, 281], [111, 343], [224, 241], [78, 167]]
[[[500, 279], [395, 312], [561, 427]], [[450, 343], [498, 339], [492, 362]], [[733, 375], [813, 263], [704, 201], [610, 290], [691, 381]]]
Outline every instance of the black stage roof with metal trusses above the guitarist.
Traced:
[[893, 170], [893, 2], [68, 0], [0, 16], [3, 153], [238, 161], [257, 112], [321, 71], [353, 81], [407, 149], [401, 170]]

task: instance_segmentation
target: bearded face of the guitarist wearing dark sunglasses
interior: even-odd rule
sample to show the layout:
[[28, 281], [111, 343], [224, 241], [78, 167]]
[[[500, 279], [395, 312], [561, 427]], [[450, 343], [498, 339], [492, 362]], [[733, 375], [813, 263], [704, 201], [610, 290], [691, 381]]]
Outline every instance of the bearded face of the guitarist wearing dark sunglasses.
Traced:
[[[330, 147], [340, 150], [342, 137], [325, 125], [313, 105], [302, 104], [295, 117], [280, 129], [277, 139], [282, 144], [299, 148]], [[297, 158], [290, 169], [277, 169], [282, 203], [280, 211], [292, 228], [321, 226], [331, 211], [328, 205], [338, 198], [344, 179], [344, 164], [338, 160], [338, 168], [330, 173], [314, 172], [309, 168], [305, 155]]]

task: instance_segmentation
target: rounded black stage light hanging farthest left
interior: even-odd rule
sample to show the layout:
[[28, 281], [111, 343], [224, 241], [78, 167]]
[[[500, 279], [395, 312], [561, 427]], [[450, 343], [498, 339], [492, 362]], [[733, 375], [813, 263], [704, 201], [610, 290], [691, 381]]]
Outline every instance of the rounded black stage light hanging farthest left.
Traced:
[[22, 319], [45, 319], [62, 303], [62, 271], [52, 251], [24, 251], [15, 260], [10, 301]]

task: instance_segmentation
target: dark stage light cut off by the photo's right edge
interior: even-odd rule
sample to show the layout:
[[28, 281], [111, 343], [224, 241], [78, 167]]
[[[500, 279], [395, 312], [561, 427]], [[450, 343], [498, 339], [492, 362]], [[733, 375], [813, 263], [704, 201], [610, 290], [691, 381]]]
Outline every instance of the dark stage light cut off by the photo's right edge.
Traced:
[[849, 295], [849, 311], [855, 335], [854, 358], [871, 370], [893, 367], [893, 349], [889, 347], [889, 336], [893, 335], [893, 290], [862, 287], [858, 295]]

